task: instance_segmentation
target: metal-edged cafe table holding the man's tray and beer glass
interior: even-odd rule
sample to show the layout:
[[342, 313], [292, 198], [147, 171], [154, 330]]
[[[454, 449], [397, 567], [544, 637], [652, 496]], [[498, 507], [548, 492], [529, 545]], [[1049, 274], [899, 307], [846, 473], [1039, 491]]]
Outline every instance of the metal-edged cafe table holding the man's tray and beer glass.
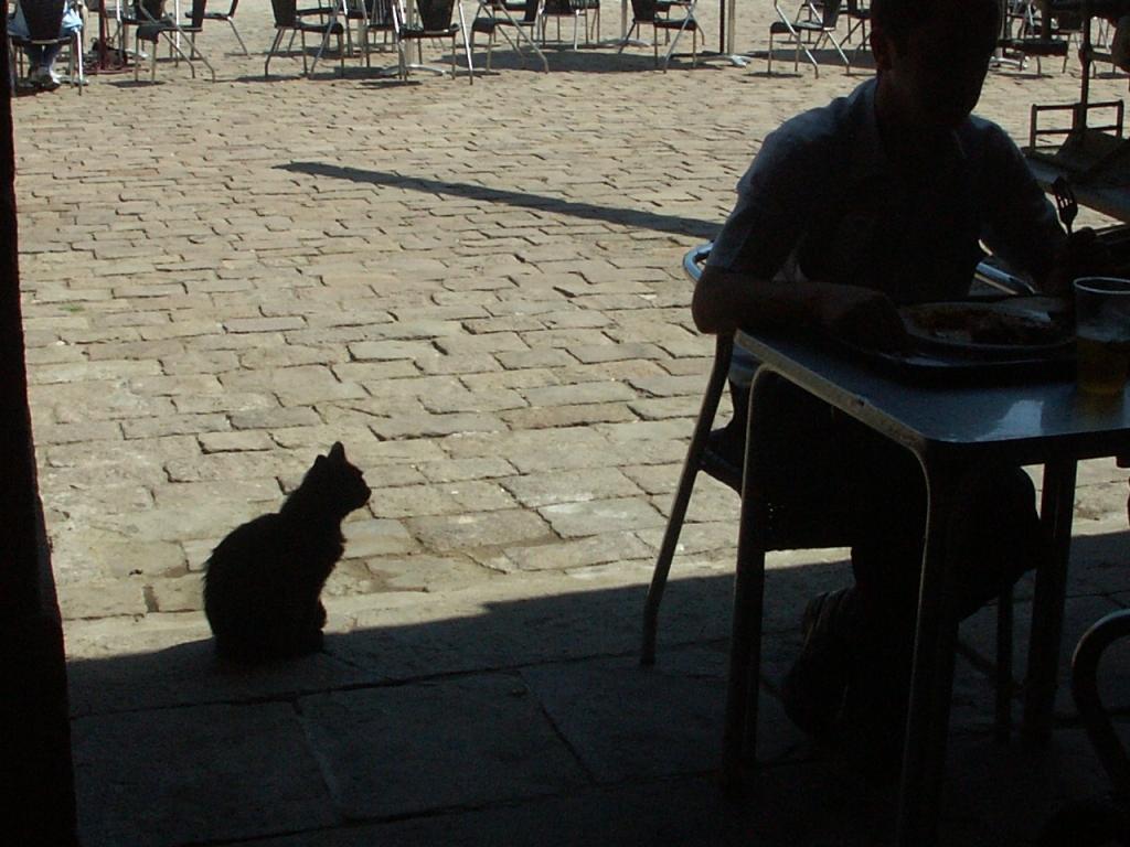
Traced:
[[[1103, 402], [1077, 392], [1069, 378], [911, 382], [885, 375], [831, 342], [763, 333], [738, 333], [736, 342], [764, 363], [750, 392], [750, 426], [759, 390], [767, 381], [782, 378], [892, 438], [922, 469], [929, 506], [897, 844], [933, 845], [958, 623], [944, 550], [950, 508], [962, 497], [968, 471], [986, 459], [1044, 465], [1041, 521], [1052, 556], [1036, 575], [1024, 722], [1026, 733], [1046, 736], [1062, 630], [1076, 463], [1130, 448], [1127, 392]], [[759, 536], [764, 504], [753, 496], [758, 490], [751, 475], [756, 474], [756, 449], [757, 439], [750, 439], [747, 431], [747, 490], [741, 504], [723, 756], [724, 774], [731, 779], [740, 771], [744, 753], [754, 752], [756, 741], [766, 548]]]

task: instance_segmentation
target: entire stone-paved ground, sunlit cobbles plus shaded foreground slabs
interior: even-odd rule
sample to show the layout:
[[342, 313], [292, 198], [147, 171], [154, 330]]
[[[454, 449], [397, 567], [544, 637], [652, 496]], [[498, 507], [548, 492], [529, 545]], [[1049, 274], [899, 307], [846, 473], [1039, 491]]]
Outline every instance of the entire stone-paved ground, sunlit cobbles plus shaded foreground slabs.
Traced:
[[[607, 6], [605, 37], [619, 23]], [[764, 49], [772, 6], [738, 7], [737, 47]], [[718, 5], [699, 12], [715, 46]], [[696, 783], [678, 802], [663, 793], [685, 787], [671, 774], [715, 760], [737, 504], [710, 480], [675, 567], [695, 578], [672, 586], [664, 611], [668, 675], [633, 675], [624, 658], [712, 352], [690, 322], [680, 259], [715, 232], [767, 132], [869, 71], [825, 63], [818, 78], [793, 76], [783, 61], [771, 78], [757, 59], [679, 60], [663, 73], [647, 49], [603, 47], [549, 50], [541, 73], [499, 49], [473, 85], [423, 73], [406, 84], [356, 59], [344, 77], [327, 60], [304, 79], [296, 56], [273, 60], [264, 79], [270, 7], [244, 0], [236, 20], [250, 56], [221, 24], [200, 38], [216, 82], [162, 62], [156, 85], [92, 76], [81, 97], [63, 88], [14, 104], [35, 442], [88, 844], [219, 844], [342, 821], [333, 838], [286, 842], [360, 844], [376, 836], [356, 821], [492, 798], [503, 807], [464, 823], [502, 839], [508, 815], [531, 809], [514, 798], [546, 794], [556, 798], [530, 814], [554, 821], [549, 842], [564, 844], [562, 809], [591, 798], [577, 786], [609, 784], [619, 787], [596, 806], [607, 817], [593, 831], [650, 804], [657, 827], [687, 838], [603, 842], [723, 842], [712, 788]], [[993, 71], [980, 111], [1023, 138], [1032, 103], [1078, 95], [1077, 71], [1044, 69]], [[1125, 88], [1099, 76], [1092, 93]], [[334, 440], [374, 494], [348, 521], [327, 587], [328, 654], [251, 680], [214, 674], [199, 611], [208, 552], [275, 509]], [[1077, 530], [1093, 543], [1072, 568], [1066, 649], [1130, 600], [1114, 567], [1124, 487], [1110, 462], [1081, 471]], [[772, 558], [770, 676], [796, 647], [803, 599], [843, 578], [843, 551]], [[990, 618], [970, 625], [974, 640], [991, 643]], [[991, 707], [963, 669], [955, 719], [983, 728]], [[427, 681], [464, 672], [477, 675]], [[657, 680], [679, 692], [658, 713]], [[381, 717], [379, 696], [400, 698], [388, 706], [399, 721]], [[427, 741], [428, 727], [486, 702], [508, 705], [452, 732], [502, 736], [547, 715], [555, 728], [503, 750]], [[329, 732], [338, 721], [350, 730]], [[765, 721], [770, 756], [796, 752], [779, 711]], [[414, 759], [382, 746], [390, 736], [425, 743], [415, 752], [432, 781], [397, 771]], [[531, 752], [557, 736], [564, 758]], [[350, 770], [365, 761], [342, 737], [376, 744], [366, 767], [391, 768], [386, 779]], [[481, 762], [469, 772], [493, 787], [453, 788], [464, 762], [452, 750]], [[267, 765], [272, 756], [286, 765]], [[768, 796], [783, 809], [846, 796], [816, 772], [799, 794], [786, 779]], [[640, 775], [660, 780], [642, 789], [651, 800], [624, 788]], [[397, 779], [407, 787], [390, 788]], [[259, 805], [235, 800], [254, 791]], [[976, 791], [963, 820], [992, 794]], [[697, 817], [673, 820], [692, 795]], [[785, 819], [836, 820], [805, 803]], [[446, 820], [392, 824], [381, 842], [473, 842], [436, 835]]]

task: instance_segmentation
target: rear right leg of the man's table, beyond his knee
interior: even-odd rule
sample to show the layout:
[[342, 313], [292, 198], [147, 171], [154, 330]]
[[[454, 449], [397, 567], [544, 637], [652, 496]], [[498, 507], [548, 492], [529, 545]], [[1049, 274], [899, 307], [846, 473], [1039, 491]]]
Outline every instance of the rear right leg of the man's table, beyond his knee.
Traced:
[[1035, 739], [1046, 739], [1051, 734], [1059, 648], [1063, 635], [1067, 566], [1071, 552], [1076, 469], [1075, 460], [1044, 465], [1040, 519], [1048, 533], [1050, 555], [1049, 560], [1036, 570], [1023, 726], [1024, 734]]

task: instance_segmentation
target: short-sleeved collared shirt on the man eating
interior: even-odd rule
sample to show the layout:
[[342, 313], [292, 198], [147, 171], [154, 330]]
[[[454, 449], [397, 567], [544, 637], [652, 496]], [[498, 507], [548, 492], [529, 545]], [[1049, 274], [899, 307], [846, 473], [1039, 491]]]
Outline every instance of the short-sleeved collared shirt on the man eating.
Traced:
[[[901, 172], [883, 150], [876, 85], [766, 137], [707, 264], [783, 283], [864, 286], [896, 304], [967, 294], [982, 244], [1042, 277], [1066, 236], [1008, 134], [970, 116], [929, 169]], [[736, 364], [736, 378], [749, 370]]]

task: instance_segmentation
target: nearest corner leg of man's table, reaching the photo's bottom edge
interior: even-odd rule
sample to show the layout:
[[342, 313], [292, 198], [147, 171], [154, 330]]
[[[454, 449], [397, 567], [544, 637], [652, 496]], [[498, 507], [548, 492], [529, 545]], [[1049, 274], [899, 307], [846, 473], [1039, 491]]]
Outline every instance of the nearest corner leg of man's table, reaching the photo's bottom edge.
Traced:
[[957, 644], [954, 577], [946, 549], [953, 507], [962, 499], [962, 477], [955, 469], [920, 461], [929, 505], [898, 793], [896, 844], [901, 847], [937, 842]]

